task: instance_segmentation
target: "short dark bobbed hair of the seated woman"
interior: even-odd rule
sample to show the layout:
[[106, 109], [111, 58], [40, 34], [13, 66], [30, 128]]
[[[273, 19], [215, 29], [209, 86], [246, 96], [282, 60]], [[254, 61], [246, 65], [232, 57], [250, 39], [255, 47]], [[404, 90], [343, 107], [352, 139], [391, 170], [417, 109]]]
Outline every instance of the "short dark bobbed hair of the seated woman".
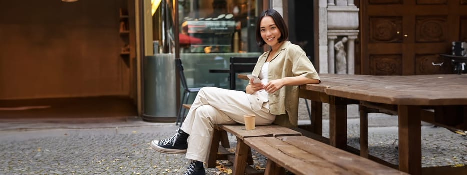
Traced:
[[285, 41], [289, 37], [289, 29], [287, 28], [284, 19], [276, 10], [267, 9], [261, 13], [261, 16], [258, 18], [258, 21], [256, 21], [256, 43], [258, 44], [258, 46], [262, 47], [266, 44], [266, 42], [264, 42], [263, 38], [261, 37], [261, 31], [259, 29], [261, 20], [265, 16], [271, 16], [274, 20], [274, 23], [276, 23], [277, 28], [279, 28], [280, 38], [277, 41], [279, 41], [279, 43]]

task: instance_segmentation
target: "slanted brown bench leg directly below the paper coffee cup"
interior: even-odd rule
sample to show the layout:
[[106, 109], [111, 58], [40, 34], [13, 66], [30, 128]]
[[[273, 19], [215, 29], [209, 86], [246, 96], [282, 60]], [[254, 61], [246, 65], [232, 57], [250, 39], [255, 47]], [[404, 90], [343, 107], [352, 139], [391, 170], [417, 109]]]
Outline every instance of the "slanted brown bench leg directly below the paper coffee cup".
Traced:
[[237, 148], [235, 151], [235, 161], [233, 174], [243, 175], [245, 173], [246, 161], [248, 159], [248, 149], [250, 147], [246, 145], [242, 139], [237, 137]]

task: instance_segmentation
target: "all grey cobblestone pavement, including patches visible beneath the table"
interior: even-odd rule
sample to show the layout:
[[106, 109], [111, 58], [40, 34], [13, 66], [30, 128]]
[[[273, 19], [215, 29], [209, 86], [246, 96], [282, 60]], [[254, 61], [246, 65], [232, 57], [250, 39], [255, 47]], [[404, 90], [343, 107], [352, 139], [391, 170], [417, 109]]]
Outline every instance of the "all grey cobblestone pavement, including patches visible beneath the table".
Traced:
[[[396, 117], [370, 114], [368, 133], [370, 154], [395, 164]], [[325, 137], [328, 126], [329, 120], [324, 120]], [[172, 136], [176, 128], [173, 123], [148, 123], [138, 118], [91, 124], [0, 121], [0, 174], [182, 174], [188, 166], [184, 155], [162, 154], [149, 146], [151, 140]], [[359, 135], [358, 118], [350, 118], [349, 145], [358, 148]], [[231, 147], [235, 143], [230, 136]], [[423, 124], [423, 167], [467, 165], [466, 150], [467, 137]], [[254, 150], [253, 155], [253, 166], [264, 168], [266, 158]], [[220, 163], [231, 168], [230, 162]], [[206, 170], [207, 174], [226, 174], [217, 168]]]

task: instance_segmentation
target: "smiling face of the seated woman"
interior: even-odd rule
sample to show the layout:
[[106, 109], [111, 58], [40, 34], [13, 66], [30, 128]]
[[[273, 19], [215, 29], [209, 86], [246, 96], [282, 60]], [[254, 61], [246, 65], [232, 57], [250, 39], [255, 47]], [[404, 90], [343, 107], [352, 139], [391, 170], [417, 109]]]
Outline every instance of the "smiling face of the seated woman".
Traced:
[[280, 38], [281, 33], [271, 16], [264, 16], [261, 19], [259, 31], [261, 33], [261, 38], [263, 38], [266, 44], [273, 48], [274, 46], [279, 46], [278, 39]]

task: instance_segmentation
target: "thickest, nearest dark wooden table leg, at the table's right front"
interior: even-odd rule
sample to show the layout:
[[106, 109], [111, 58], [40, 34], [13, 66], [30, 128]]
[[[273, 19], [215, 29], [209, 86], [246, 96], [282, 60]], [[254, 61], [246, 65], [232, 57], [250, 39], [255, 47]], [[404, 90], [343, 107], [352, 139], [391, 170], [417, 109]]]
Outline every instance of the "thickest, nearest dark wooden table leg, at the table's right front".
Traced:
[[399, 105], [399, 170], [421, 174], [420, 106]]

